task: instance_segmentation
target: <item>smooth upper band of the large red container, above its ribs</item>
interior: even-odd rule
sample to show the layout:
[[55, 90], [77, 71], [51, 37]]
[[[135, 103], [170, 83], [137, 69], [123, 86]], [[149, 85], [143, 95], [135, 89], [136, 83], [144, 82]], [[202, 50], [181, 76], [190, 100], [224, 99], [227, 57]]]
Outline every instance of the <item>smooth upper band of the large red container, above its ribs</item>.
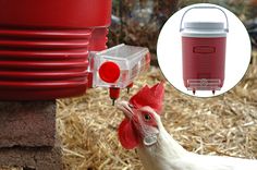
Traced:
[[0, 0], [0, 25], [39, 28], [108, 26], [111, 0]]

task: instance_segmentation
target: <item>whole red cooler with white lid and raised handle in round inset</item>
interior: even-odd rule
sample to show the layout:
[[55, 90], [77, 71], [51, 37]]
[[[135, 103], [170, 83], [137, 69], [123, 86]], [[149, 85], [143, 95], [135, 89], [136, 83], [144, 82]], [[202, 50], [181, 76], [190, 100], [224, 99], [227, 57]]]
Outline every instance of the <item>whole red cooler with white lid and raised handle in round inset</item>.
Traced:
[[[219, 10], [225, 22], [188, 21], [185, 15], [191, 10]], [[210, 19], [211, 20], [211, 19]], [[225, 48], [229, 22], [225, 12], [212, 5], [199, 5], [187, 9], [182, 16], [183, 80], [188, 90], [219, 90], [224, 83]]]

